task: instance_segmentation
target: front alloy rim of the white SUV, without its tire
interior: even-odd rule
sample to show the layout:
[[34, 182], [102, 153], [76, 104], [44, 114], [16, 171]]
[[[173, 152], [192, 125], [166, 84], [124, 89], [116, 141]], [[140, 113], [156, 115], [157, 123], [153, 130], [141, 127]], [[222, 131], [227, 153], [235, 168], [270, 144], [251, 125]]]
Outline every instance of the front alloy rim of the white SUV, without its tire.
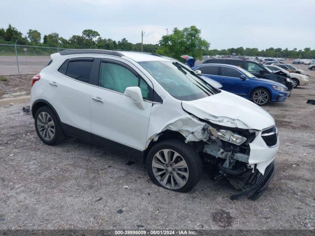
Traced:
[[168, 189], [182, 188], [189, 177], [186, 161], [171, 149], [162, 149], [154, 155], [152, 170], [158, 182]]

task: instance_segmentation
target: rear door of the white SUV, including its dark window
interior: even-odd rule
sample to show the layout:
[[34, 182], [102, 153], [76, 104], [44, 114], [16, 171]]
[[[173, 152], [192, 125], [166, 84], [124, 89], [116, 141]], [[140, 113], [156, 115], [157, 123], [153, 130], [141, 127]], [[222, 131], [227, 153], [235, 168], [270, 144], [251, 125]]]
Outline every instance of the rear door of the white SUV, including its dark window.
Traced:
[[71, 58], [49, 77], [45, 94], [57, 111], [63, 128], [91, 138], [90, 89], [93, 58]]

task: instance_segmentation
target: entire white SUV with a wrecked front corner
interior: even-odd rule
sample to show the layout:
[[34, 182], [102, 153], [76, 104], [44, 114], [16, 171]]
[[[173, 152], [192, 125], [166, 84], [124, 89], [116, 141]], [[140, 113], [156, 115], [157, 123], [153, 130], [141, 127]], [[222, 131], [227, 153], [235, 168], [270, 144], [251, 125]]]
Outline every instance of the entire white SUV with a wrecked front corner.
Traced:
[[77, 137], [146, 163], [152, 181], [191, 190], [203, 164], [257, 199], [279, 148], [274, 119], [212, 87], [174, 59], [138, 52], [65, 50], [33, 77], [30, 106], [47, 145]]

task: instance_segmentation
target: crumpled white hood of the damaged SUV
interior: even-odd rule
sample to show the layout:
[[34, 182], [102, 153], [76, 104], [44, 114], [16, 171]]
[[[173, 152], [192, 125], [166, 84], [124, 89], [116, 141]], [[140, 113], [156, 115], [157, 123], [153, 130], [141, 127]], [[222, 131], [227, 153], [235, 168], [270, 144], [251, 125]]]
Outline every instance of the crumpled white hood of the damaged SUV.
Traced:
[[182, 107], [198, 118], [232, 128], [262, 130], [275, 125], [274, 118], [256, 104], [222, 90], [209, 97], [182, 101]]

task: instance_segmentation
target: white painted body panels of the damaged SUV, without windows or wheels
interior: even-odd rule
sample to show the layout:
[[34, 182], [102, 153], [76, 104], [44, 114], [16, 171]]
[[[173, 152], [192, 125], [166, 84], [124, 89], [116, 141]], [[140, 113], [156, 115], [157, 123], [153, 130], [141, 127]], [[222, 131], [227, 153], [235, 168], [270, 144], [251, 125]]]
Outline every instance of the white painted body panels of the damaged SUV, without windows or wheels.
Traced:
[[[270, 148], [260, 136], [261, 131], [274, 126], [275, 121], [262, 108], [222, 90], [203, 99], [178, 100], [138, 63], [171, 59], [136, 52], [121, 53], [125, 56], [53, 54], [53, 62], [40, 72], [41, 79], [32, 87], [31, 108], [37, 99], [49, 101], [63, 123], [140, 151], [148, 148], [166, 129], [178, 131], [186, 138], [186, 142], [204, 140], [209, 133], [205, 133], [202, 127], [209, 127], [211, 123], [253, 130], [256, 138], [250, 144], [249, 164], [257, 164], [257, 169], [263, 174], [267, 165], [275, 159], [279, 145]], [[73, 57], [114, 59], [126, 63], [155, 89], [163, 102], [144, 101], [142, 110], [124, 93], [92, 86], [59, 73], [58, 68], [63, 61]], [[39, 88], [43, 89], [40, 91]], [[93, 97], [104, 102], [96, 103]], [[210, 125], [203, 120], [208, 120]]]

